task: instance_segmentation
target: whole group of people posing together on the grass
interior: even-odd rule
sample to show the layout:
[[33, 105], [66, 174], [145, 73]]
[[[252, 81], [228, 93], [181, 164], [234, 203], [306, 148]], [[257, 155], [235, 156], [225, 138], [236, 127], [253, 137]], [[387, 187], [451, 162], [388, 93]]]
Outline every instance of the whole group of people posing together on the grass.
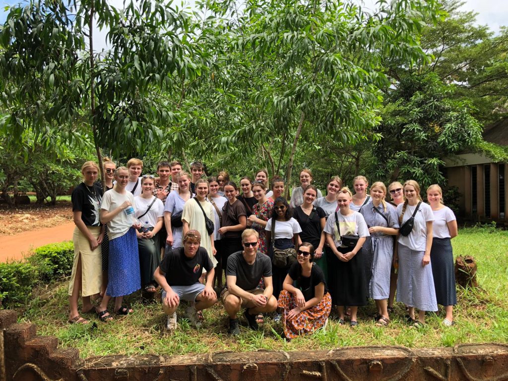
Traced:
[[[177, 161], [159, 163], [154, 176], [142, 171], [137, 158], [118, 168], [105, 160], [103, 194], [98, 165], [82, 166], [83, 182], [72, 194], [69, 323], [88, 323], [81, 316], [87, 312], [112, 320], [111, 298], [112, 312], [129, 314], [123, 296], [160, 288], [170, 330], [177, 328], [180, 301], [199, 327], [202, 310], [218, 299], [233, 335], [242, 308], [252, 329], [272, 313], [288, 339], [326, 326], [332, 306], [339, 325], [349, 316], [355, 327], [358, 307], [369, 298], [375, 324], [386, 327], [395, 291], [412, 326], [423, 326], [425, 311], [437, 311], [437, 304], [446, 310], [443, 324], [454, 324], [450, 240], [457, 223], [438, 185], [428, 187], [427, 204], [414, 180], [393, 182], [387, 191], [383, 182], [369, 188], [357, 176], [353, 194], [334, 176], [322, 196], [303, 169], [287, 200], [284, 181], [269, 181], [266, 170], [242, 177], [240, 188], [226, 171], [203, 179], [200, 162], [190, 165], [191, 173]], [[90, 297], [97, 294], [102, 300], [94, 306]]]

